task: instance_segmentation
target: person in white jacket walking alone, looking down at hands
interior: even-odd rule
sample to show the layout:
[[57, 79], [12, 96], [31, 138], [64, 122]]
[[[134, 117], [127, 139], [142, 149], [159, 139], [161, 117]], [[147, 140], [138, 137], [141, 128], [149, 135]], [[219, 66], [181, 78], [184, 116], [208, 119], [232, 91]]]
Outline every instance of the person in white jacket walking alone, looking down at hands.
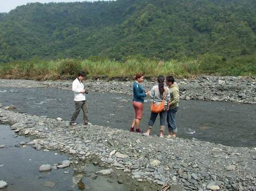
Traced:
[[86, 90], [84, 89], [84, 84], [82, 84], [82, 80], [85, 79], [86, 74], [84, 71], [81, 71], [78, 74], [78, 77], [72, 83], [72, 90], [75, 94], [75, 112], [72, 115], [71, 121], [69, 122], [70, 125], [76, 125], [75, 121], [77, 116], [79, 115], [80, 110], [84, 113], [84, 125], [92, 125], [88, 121], [88, 105], [86, 103]]

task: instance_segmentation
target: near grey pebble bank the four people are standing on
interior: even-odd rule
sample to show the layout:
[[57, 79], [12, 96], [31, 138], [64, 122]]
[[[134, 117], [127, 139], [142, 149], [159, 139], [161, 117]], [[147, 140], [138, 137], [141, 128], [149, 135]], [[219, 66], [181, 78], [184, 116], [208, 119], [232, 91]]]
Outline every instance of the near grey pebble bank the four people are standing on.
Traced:
[[[37, 150], [58, 150], [74, 160], [121, 169], [130, 179], [173, 190], [256, 190], [256, 148], [228, 147], [196, 139], [143, 137], [102, 126], [69, 126], [68, 121], [0, 109], [18, 135], [36, 137]], [[102, 172], [103, 173], [103, 172]], [[154, 185], [153, 184], [153, 185]], [[158, 188], [158, 189], [159, 189]]]

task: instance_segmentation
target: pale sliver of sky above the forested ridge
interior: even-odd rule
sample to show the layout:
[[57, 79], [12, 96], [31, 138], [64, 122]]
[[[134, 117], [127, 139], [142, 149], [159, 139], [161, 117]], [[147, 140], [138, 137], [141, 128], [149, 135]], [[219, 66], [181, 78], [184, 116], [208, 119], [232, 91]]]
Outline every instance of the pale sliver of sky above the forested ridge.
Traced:
[[[16, 6], [26, 5], [27, 3], [49, 3], [49, 2], [77, 2], [80, 0], [0, 0], [0, 12], [9, 12], [12, 9], [15, 9]], [[82, 0], [82, 1], [98, 1], [98, 0]], [[106, 1], [106, 0], [102, 0]], [[81, 1], [80, 1], [81, 2]]]

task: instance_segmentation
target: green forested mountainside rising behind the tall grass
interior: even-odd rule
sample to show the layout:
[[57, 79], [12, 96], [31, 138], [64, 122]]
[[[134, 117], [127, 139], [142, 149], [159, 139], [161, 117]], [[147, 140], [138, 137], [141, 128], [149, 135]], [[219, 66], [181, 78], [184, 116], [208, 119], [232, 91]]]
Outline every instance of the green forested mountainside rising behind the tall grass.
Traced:
[[138, 54], [226, 61], [254, 59], [255, 47], [255, 0], [29, 3], [0, 14], [0, 62]]

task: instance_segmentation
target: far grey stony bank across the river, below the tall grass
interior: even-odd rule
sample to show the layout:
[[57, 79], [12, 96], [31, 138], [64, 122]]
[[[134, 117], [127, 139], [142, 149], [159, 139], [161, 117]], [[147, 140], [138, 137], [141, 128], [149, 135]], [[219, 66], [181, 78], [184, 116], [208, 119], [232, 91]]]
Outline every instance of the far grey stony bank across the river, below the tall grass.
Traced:
[[[255, 77], [212, 77], [202, 76], [196, 79], [177, 79], [180, 88], [180, 99], [185, 100], [211, 100], [228, 101], [237, 103], [256, 104]], [[32, 80], [0, 80], [0, 87], [57, 87], [63, 90], [71, 90], [72, 82]], [[86, 88], [89, 91], [115, 92], [131, 95], [133, 81], [121, 82], [104, 80], [87, 80]], [[145, 90], [150, 90], [156, 82], [145, 80]]]

